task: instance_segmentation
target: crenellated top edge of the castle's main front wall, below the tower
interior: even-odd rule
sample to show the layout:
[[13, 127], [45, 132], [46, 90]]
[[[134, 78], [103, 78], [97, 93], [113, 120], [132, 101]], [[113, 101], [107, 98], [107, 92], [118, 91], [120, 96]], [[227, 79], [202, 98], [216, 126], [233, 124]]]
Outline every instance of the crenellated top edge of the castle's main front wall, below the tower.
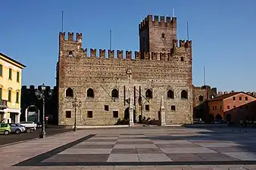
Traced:
[[[146, 52], [146, 51], [123, 51], [123, 50], [106, 50], [82, 48], [82, 33], [76, 33], [76, 40], [73, 39], [73, 32], [68, 32], [68, 38], [65, 32], [60, 32], [60, 41], [65, 42], [67, 51], [60, 51], [60, 55], [67, 57], [85, 57], [85, 58], [101, 58], [101, 59], [126, 59], [126, 60], [176, 60], [176, 54], [190, 54], [192, 50], [192, 41], [173, 39], [173, 48], [169, 53], [164, 52]], [[179, 45], [178, 45], [179, 42]], [[73, 45], [77, 49], [73, 48]], [[70, 46], [70, 48], [68, 47]], [[77, 55], [78, 53], [78, 55]], [[107, 55], [108, 54], [108, 55]], [[133, 55], [134, 54], [134, 55]]]

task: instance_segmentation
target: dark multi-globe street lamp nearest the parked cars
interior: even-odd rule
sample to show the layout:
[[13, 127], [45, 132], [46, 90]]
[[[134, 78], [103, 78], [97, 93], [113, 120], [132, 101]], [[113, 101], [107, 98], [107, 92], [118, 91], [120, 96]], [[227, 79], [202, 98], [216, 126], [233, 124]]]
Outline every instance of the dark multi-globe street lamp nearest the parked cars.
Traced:
[[48, 91], [45, 91], [45, 90], [46, 90], [46, 86], [44, 83], [42, 83], [41, 90], [35, 91], [36, 97], [39, 100], [42, 100], [42, 131], [39, 138], [45, 138], [45, 99], [50, 99], [52, 97], [52, 90], [51, 89], [49, 89]]

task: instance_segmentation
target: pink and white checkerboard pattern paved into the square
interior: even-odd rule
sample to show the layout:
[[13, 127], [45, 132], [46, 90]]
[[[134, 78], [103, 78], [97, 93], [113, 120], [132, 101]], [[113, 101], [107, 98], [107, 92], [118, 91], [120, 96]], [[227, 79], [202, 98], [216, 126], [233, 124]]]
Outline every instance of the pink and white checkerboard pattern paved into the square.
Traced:
[[[190, 137], [188, 138], [187, 136]], [[192, 134], [96, 134], [44, 159], [63, 162], [239, 162], [256, 161], [250, 136], [221, 134], [216, 138]], [[255, 162], [256, 163], [256, 162]]]

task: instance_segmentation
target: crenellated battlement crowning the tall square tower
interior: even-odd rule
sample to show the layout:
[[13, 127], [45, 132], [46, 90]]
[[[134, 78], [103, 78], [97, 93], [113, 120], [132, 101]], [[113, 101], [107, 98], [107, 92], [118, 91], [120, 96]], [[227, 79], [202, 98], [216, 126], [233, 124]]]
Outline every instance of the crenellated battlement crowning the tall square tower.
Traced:
[[[153, 20], [154, 17], [154, 20]], [[160, 20], [159, 20], [160, 19]], [[148, 26], [161, 26], [176, 28], [176, 17], [164, 17], [164, 16], [152, 16], [148, 15], [144, 20], [139, 24], [139, 30], [146, 29]]]

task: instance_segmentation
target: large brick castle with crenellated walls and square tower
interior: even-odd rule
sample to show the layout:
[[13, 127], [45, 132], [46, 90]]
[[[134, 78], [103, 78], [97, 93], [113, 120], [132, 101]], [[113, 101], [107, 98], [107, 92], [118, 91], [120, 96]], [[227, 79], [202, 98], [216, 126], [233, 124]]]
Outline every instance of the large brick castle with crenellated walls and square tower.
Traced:
[[[139, 24], [135, 51], [82, 48], [82, 33], [59, 33], [58, 124], [115, 125], [145, 117], [165, 123], [192, 123], [192, 42], [176, 40], [176, 17], [148, 15]], [[178, 43], [179, 42], [179, 43]], [[125, 56], [123, 57], [123, 53]], [[162, 118], [163, 119], [163, 118]]]

